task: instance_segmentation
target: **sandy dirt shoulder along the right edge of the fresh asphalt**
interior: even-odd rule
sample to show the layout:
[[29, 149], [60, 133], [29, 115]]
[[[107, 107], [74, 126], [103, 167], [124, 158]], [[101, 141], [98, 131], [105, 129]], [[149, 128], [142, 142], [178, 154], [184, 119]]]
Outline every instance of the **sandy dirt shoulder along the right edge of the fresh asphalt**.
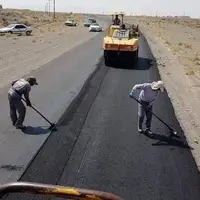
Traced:
[[126, 21], [138, 23], [146, 37], [200, 169], [200, 20], [127, 17]]

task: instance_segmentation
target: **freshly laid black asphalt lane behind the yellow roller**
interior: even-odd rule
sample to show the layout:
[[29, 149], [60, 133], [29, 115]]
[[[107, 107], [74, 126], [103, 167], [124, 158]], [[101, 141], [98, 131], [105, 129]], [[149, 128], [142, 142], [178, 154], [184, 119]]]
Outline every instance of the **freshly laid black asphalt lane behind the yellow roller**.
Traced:
[[[129, 200], [200, 199], [199, 172], [166, 92], [154, 111], [181, 138], [169, 139], [168, 129], [156, 119], [153, 137], [137, 132], [137, 104], [129, 92], [136, 83], [159, 79], [143, 37], [139, 56], [132, 69], [108, 68], [99, 61], [99, 70], [21, 181], [103, 190]], [[7, 199], [22, 198], [34, 199], [28, 195]]]

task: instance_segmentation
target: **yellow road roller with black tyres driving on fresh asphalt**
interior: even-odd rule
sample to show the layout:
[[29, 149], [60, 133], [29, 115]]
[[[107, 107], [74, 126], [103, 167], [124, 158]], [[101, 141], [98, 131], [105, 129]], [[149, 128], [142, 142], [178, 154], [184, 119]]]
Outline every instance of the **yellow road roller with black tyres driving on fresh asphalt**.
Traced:
[[[105, 64], [110, 65], [113, 60], [135, 62], [138, 59], [139, 29], [138, 26], [129, 28], [122, 25], [110, 25], [107, 36], [103, 40]], [[113, 16], [113, 15], [112, 15]], [[125, 26], [125, 25], [124, 25]]]

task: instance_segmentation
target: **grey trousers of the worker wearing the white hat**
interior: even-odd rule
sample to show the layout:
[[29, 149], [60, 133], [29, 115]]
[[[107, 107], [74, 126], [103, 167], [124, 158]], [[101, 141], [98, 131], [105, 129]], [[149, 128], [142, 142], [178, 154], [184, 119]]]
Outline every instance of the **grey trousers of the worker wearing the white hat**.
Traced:
[[[140, 101], [144, 107], [148, 107], [149, 103], [145, 101]], [[148, 109], [145, 109], [141, 104], [138, 104], [138, 128], [142, 129], [142, 124], [144, 121], [144, 117], [146, 115], [146, 128], [151, 128], [151, 121], [152, 121], [152, 109], [153, 106], [150, 106]], [[150, 111], [150, 112], [149, 112]]]

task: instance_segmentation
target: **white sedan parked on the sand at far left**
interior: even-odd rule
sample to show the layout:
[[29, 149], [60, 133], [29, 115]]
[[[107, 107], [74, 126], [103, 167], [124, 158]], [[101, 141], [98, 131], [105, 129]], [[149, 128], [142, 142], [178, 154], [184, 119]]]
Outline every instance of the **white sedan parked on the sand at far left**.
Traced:
[[1, 28], [0, 33], [26, 33], [26, 35], [30, 35], [32, 33], [32, 28], [24, 24], [10, 24], [5, 28]]

